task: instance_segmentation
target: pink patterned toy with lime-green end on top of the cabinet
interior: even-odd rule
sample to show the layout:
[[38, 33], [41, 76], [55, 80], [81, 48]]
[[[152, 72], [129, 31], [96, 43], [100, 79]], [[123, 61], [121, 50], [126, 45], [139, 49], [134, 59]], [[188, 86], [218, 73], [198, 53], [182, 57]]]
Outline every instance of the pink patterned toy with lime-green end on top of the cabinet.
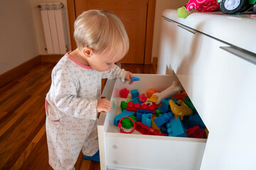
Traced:
[[182, 6], [178, 8], [178, 17], [179, 18], [187, 18], [190, 11], [193, 8], [196, 8], [199, 12], [210, 12], [216, 11], [220, 7], [220, 4], [217, 0], [189, 0], [186, 6]]

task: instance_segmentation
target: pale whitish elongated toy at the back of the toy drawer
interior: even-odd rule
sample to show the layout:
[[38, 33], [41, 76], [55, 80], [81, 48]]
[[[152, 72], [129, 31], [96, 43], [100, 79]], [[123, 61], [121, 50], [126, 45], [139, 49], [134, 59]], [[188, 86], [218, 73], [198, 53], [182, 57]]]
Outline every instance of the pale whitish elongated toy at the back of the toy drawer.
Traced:
[[182, 89], [183, 89], [183, 87], [181, 85], [179, 85], [177, 83], [177, 81], [174, 81], [173, 84], [171, 84], [171, 86], [169, 86], [164, 91], [161, 91], [161, 93], [154, 94], [155, 96], [158, 97], [156, 104], [161, 103], [161, 101], [164, 98], [170, 98], [171, 96], [173, 96], [174, 94], [178, 93]]

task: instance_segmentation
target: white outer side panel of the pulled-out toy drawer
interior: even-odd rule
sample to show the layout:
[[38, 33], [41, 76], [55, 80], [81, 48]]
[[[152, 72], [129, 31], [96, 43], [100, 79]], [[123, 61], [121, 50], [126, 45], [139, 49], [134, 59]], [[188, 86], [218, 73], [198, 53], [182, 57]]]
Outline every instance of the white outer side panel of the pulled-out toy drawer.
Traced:
[[130, 169], [200, 169], [206, 140], [148, 135], [106, 136], [107, 165]]

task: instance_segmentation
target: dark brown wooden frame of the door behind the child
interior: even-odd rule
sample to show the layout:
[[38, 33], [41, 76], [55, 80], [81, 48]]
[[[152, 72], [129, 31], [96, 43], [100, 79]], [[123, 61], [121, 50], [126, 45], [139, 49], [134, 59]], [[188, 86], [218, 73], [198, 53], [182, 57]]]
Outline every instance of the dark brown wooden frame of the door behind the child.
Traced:
[[[145, 49], [144, 49], [144, 64], [151, 64], [152, 56], [152, 45], [153, 45], [153, 35], [154, 35], [154, 16], [156, 0], [147, 0], [147, 15], [146, 15], [146, 35], [145, 35]], [[74, 33], [74, 23], [75, 23], [75, 0], [67, 0], [68, 4], [68, 23], [70, 27], [70, 41], [71, 50], [75, 50], [76, 44], [73, 37]]]

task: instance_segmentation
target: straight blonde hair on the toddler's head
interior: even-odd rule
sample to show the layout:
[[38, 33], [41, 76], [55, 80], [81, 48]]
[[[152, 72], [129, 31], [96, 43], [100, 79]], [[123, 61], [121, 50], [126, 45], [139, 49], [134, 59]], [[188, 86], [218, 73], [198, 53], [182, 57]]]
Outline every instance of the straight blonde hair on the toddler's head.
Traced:
[[90, 47], [95, 52], [112, 52], [118, 43], [122, 43], [123, 51], [129, 50], [129, 38], [122, 21], [104, 10], [83, 12], [75, 20], [74, 38], [78, 49]]

